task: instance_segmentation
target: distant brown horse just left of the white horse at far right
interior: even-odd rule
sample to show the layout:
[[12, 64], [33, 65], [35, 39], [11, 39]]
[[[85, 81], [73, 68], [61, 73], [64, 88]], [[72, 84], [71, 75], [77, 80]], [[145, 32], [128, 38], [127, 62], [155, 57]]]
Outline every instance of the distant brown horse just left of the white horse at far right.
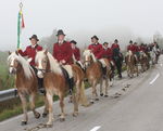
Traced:
[[149, 57], [143, 51], [140, 51], [139, 62], [141, 65], [141, 71], [146, 71], [149, 68]]

